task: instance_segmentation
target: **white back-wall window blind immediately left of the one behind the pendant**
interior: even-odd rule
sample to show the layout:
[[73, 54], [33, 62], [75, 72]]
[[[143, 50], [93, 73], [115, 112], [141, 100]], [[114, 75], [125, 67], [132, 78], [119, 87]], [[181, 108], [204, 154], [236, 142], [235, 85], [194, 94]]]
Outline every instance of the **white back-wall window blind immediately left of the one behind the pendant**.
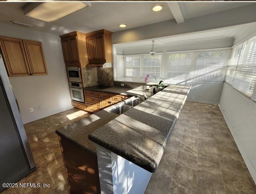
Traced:
[[139, 77], [140, 75], [140, 56], [125, 57], [125, 76]]

